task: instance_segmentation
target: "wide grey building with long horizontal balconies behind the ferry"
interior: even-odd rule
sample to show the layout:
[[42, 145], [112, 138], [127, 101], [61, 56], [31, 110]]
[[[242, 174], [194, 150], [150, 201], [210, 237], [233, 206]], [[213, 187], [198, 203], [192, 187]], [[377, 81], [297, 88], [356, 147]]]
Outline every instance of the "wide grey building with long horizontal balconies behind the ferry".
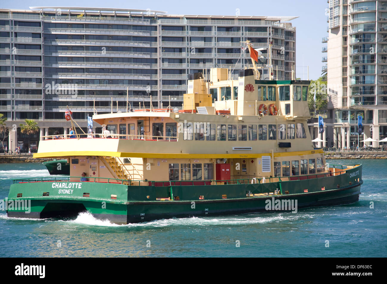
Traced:
[[127, 111], [127, 96], [129, 109], [151, 103], [181, 109], [189, 73], [219, 66], [237, 77], [251, 64], [240, 43], [247, 39], [254, 48], [272, 41], [279, 80], [289, 80], [295, 66], [296, 29], [288, 22], [295, 17], [30, 9], [0, 9], [0, 113], [7, 126], [17, 127], [3, 143], [10, 147], [12, 141], [12, 148], [28, 147], [19, 128], [24, 119], [40, 127], [30, 137], [33, 148], [39, 136], [68, 133], [67, 106], [85, 128], [94, 108], [98, 114]]

